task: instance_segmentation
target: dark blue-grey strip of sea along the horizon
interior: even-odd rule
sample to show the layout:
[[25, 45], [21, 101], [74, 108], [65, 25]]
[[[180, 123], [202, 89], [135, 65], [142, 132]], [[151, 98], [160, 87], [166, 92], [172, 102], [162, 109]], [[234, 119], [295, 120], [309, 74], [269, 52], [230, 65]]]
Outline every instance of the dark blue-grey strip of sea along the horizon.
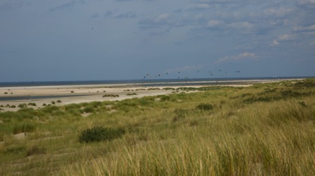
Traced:
[[57, 85], [142, 85], [142, 86], [164, 86], [164, 85], [215, 85], [220, 82], [225, 84], [234, 83], [236, 80], [275, 80], [275, 79], [298, 79], [314, 78], [304, 77], [262, 77], [262, 78], [191, 78], [191, 79], [142, 79], [142, 80], [69, 80], [69, 81], [32, 81], [32, 82], [7, 82], [0, 83], [0, 87], [32, 87], [32, 86], [57, 86]]

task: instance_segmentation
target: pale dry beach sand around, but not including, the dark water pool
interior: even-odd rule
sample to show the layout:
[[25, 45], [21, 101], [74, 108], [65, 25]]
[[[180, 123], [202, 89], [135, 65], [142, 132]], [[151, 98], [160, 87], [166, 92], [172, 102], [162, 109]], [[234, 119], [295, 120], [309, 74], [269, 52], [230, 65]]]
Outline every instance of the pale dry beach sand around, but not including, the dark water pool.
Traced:
[[[296, 80], [296, 79], [295, 79]], [[81, 102], [94, 102], [94, 101], [115, 101], [115, 100], [124, 100], [126, 98], [141, 98], [144, 96], [158, 96], [171, 94], [172, 90], [162, 90], [164, 87], [172, 87], [174, 89], [178, 87], [209, 87], [209, 86], [230, 86], [230, 87], [248, 87], [255, 83], [270, 83], [278, 82], [282, 80], [235, 80], [235, 81], [220, 81], [218, 85], [187, 85], [184, 86], [145, 86], [144, 84], [133, 84], [133, 85], [61, 85], [61, 86], [36, 86], [36, 87], [0, 87], [0, 97], [10, 97], [10, 96], [72, 96], [72, 97], [63, 97], [63, 98], [44, 98], [44, 99], [35, 99], [35, 100], [0, 100], [0, 106], [6, 106], [6, 104], [15, 105], [16, 108], [0, 107], [3, 109], [1, 111], [17, 111], [19, 110], [19, 104], [28, 104], [30, 102], [35, 102], [38, 109], [42, 107], [42, 104], [51, 104], [52, 101], [55, 101], [55, 105], [64, 105], [72, 103], [81, 103]], [[229, 82], [229, 85], [225, 83]], [[233, 82], [233, 84], [231, 84]], [[205, 83], [205, 82], [200, 82]], [[215, 82], [209, 82], [215, 83]], [[153, 85], [153, 84], [151, 84]], [[159, 88], [160, 90], [148, 90], [150, 88]], [[137, 90], [138, 89], [138, 90]], [[139, 90], [140, 89], [140, 90]], [[145, 90], [142, 90], [145, 89]], [[127, 91], [129, 90], [129, 91]], [[74, 91], [74, 93], [71, 93]], [[105, 91], [105, 92], [104, 92]], [[5, 94], [7, 92], [8, 94]], [[191, 92], [191, 91], [190, 91]], [[127, 96], [127, 94], [137, 94], [133, 96]], [[118, 95], [119, 97], [104, 97], [106, 94]], [[77, 96], [75, 96], [77, 95]], [[84, 96], [80, 96], [84, 95]], [[57, 100], [61, 102], [57, 103]]]

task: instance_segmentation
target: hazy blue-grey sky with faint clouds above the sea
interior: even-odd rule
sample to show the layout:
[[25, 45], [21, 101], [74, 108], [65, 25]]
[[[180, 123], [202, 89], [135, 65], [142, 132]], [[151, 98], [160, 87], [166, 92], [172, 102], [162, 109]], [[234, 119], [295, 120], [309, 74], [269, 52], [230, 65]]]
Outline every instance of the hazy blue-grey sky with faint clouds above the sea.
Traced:
[[1, 0], [0, 82], [315, 76], [315, 0]]

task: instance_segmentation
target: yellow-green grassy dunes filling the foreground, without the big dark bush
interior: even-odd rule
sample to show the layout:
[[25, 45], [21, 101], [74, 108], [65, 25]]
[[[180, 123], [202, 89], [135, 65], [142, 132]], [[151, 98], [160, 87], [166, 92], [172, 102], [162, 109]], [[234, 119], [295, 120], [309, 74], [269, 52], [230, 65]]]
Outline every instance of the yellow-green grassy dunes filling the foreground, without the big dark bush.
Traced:
[[314, 79], [187, 90], [1, 112], [0, 175], [315, 175]]

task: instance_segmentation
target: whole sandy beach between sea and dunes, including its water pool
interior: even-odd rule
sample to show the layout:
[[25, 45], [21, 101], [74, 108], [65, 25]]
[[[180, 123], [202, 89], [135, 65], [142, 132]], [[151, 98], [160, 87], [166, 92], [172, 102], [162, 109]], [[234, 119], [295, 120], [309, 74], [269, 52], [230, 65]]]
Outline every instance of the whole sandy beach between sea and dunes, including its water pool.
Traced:
[[[142, 98], [144, 96], [167, 95], [172, 94], [173, 91], [179, 87], [249, 87], [258, 83], [276, 83], [285, 80], [294, 81], [303, 79], [304, 78], [256, 78], [252, 80], [218, 80], [218, 82], [216, 80], [196, 80], [193, 82], [178, 81], [103, 85], [37, 85], [29, 87], [0, 87], [0, 106], [3, 111], [17, 111], [19, 110], [18, 106], [20, 104], [35, 103], [37, 104], [36, 107], [32, 108], [38, 109], [44, 107], [44, 104], [65, 105], [82, 102], [116, 101], [128, 98]], [[8, 104], [15, 108], [7, 107]]]

